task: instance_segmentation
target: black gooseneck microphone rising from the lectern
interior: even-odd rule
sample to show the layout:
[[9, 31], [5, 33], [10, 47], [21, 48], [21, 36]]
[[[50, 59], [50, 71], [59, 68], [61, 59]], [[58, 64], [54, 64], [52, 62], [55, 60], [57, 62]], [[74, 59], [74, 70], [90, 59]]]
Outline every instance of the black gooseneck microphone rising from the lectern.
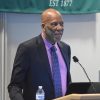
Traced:
[[78, 58], [77, 58], [76, 56], [73, 56], [73, 61], [74, 61], [75, 63], [77, 62], [77, 63], [81, 66], [81, 68], [83, 69], [83, 71], [84, 71], [84, 73], [85, 73], [87, 79], [88, 79], [89, 82], [91, 83], [94, 92], [96, 93], [96, 89], [95, 89], [95, 87], [94, 87], [94, 84], [91, 82], [91, 80], [90, 80], [90, 78], [89, 78], [89, 76], [88, 76], [86, 70], [84, 69], [84, 67], [83, 67], [82, 64], [79, 62], [79, 60], [78, 60]]

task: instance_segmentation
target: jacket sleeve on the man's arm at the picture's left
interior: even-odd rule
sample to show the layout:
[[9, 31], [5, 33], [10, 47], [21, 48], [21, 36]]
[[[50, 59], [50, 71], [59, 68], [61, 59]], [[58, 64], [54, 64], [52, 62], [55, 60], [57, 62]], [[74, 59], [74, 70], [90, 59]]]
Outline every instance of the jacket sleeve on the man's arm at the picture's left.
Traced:
[[25, 81], [25, 74], [29, 66], [27, 50], [27, 47], [21, 44], [16, 53], [11, 82], [8, 85], [8, 92], [11, 100], [24, 100], [22, 89]]

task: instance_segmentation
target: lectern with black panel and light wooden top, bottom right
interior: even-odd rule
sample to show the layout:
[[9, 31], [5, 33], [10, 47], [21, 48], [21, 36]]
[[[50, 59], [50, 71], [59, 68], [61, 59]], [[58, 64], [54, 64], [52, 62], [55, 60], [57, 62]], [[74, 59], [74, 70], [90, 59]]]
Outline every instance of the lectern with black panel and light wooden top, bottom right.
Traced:
[[66, 96], [54, 100], [100, 100], [100, 82], [71, 83]]

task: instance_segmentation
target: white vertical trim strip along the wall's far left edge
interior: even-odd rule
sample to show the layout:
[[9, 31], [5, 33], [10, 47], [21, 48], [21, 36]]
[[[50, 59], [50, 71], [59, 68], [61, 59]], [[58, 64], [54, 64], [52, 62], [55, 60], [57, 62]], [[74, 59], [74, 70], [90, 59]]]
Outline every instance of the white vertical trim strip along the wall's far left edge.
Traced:
[[7, 81], [7, 75], [6, 75], [6, 67], [7, 67], [7, 28], [6, 28], [6, 23], [7, 23], [7, 18], [6, 18], [6, 13], [2, 13], [2, 25], [3, 25], [3, 30], [2, 30], [2, 100], [8, 100], [6, 99], [6, 81]]

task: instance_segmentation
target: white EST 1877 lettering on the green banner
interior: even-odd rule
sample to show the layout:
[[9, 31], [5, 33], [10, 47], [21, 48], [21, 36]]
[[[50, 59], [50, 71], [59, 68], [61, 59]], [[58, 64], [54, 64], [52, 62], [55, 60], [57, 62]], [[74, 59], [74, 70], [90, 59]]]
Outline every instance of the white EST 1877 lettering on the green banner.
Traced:
[[50, 0], [49, 1], [49, 6], [50, 7], [68, 7], [71, 6], [73, 3], [73, 0]]

